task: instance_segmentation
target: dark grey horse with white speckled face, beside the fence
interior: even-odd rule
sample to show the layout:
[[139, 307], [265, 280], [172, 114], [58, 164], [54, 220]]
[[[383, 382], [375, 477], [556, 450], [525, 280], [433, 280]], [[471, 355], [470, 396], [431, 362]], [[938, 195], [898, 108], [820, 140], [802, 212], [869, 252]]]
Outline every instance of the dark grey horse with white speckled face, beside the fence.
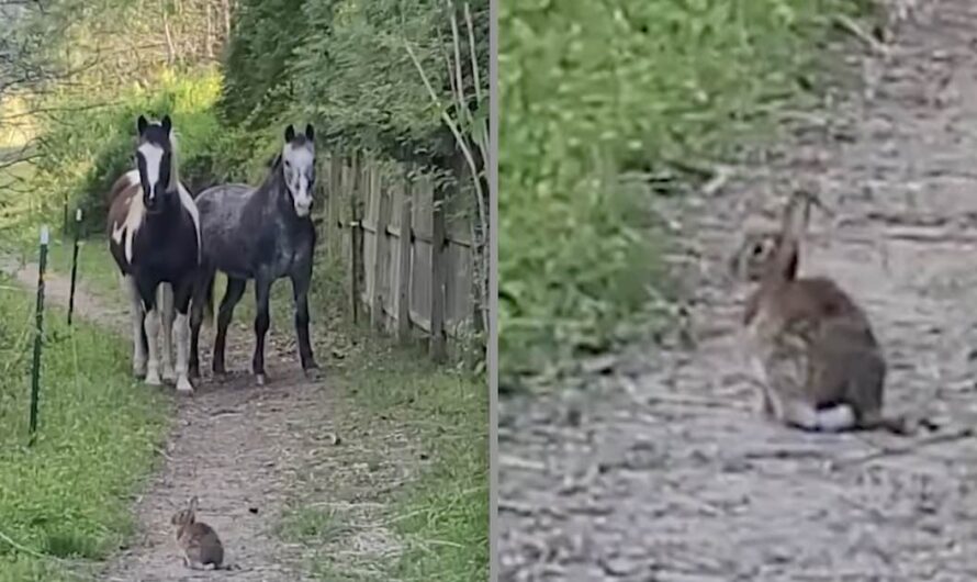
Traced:
[[285, 143], [258, 188], [232, 183], [215, 186], [196, 197], [203, 238], [203, 270], [193, 296], [190, 372], [200, 374], [198, 338], [204, 309], [212, 310], [216, 271], [227, 275], [227, 290], [217, 312], [213, 370], [226, 373], [224, 347], [227, 325], [249, 279], [255, 280], [255, 356], [251, 371], [259, 385], [266, 381], [265, 335], [268, 300], [278, 279], [292, 280], [299, 356], [306, 372], [317, 368], [308, 340], [308, 284], [312, 280], [315, 225], [310, 216], [315, 183], [315, 142], [312, 125], [296, 134], [289, 125]]

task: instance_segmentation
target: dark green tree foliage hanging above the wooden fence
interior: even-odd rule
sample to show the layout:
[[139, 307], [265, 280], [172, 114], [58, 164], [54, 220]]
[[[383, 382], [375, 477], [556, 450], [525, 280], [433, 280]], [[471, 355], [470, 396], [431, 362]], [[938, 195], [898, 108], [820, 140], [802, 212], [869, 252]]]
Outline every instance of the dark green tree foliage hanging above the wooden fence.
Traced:
[[[488, 2], [472, 2], [483, 101], [488, 94]], [[236, 18], [221, 109], [248, 127], [287, 116], [321, 124], [334, 143], [389, 157], [445, 164], [453, 138], [405, 48], [409, 43], [442, 107], [453, 53], [446, 2], [246, 0]], [[458, 7], [467, 94], [474, 110], [464, 19]], [[301, 24], [295, 24], [300, 21]], [[277, 133], [277, 132], [276, 132]]]

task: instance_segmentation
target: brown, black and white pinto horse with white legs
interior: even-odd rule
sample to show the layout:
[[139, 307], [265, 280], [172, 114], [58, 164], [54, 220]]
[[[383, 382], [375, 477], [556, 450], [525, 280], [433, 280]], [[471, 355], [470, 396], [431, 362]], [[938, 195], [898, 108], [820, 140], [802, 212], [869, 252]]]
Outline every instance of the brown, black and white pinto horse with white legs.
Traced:
[[[110, 193], [109, 250], [131, 300], [133, 371], [145, 373], [147, 384], [162, 383], [157, 340], [162, 311], [162, 378], [176, 381], [179, 392], [190, 393], [188, 312], [200, 269], [200, 216], [180, 182], [169, 115], [159, 123], [139, 115], [137, 126], [137, 169], [119, 178]], [[176, 370], [170, 360], [173, 332]]]

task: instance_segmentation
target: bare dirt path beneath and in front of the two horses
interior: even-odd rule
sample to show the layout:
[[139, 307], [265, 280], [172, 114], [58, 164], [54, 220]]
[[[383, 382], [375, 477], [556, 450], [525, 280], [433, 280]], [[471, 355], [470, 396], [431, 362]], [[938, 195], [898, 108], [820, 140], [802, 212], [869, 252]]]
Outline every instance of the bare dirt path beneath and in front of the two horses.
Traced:
[[[8, 261], [2, 268], [12, 268], [24, 286], [36, 286], [36, 265], [18, 269]], [[47, 277], [48, 302], [67, 305], [68, 291], [66, 278], [57, 273]], [[128, 337], [125, 305], [112, 306], [109, 300], [79, 289], [76, 313]], [[322, 454], [330, 456], [330, 449], [336, 452], [326, 465], [334, 467], [356, 452], [340, 452], [329, 440], [341, 399], [329, 390], [328, 382], [305, 379], [288, 329], [281, 336], [273, 329], [270, 333], [267, 366], [271, 382], [261, 389], [254, 385], [251, 377], [244, 373], [252, 345], [249, 327], [237, 323], [228, 332], [228, 369], [240, 372], [214, 382], [205, 371], [207, 377], [193, 398], [175, 399], [178, 414], [164, 466], [136, 503], [139, 531], [103, 580], [306, 580], [297, 568], [301, 548], [283, 544], [273, 529], [300, 471], [321, 463]], [[210, 370], [210, 337], [202, 338], [202, 370]], [[340, 468], [334, 474], [341, 472]], [[198, 572], [183, 567], [169, 519], [192, 495], [200, 497], [200, 518], [220, 534], [225, 561], [239, 570]], [[379, 546], [379, 550], [385, 549]]]

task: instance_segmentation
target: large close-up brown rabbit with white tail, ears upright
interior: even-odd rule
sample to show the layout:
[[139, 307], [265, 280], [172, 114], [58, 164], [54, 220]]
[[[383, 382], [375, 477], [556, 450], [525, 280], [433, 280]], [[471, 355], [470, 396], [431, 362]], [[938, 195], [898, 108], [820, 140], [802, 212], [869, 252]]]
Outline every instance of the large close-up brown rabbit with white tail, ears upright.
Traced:
[[[812, 198], [795, 193], [778, 235], [743, 259], [763, 266], [743, 317], [763, 384], [761, 408], [807, 430], [906, 434], [903, 417], [881, 413], [886, 362], [865, 312], [832, 280], [797, 277]], [[757, 272], [738, 270], [748, 279]]]

